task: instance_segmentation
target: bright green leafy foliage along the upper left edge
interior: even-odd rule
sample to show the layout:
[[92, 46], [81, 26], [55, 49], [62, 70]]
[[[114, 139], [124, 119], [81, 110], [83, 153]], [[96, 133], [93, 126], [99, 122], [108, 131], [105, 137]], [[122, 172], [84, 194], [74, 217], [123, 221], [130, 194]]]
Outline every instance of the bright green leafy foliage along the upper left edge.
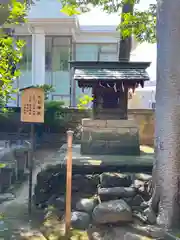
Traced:
[[[0, 4], [0, 105], [5, 106], [13, 89], [13, 82], [20, 75], [17, 68], [22, 57], [24, 41], [18, 40], [13, 36], [11, 28], [14, 25], [25, 22], [26, 3], [16, 0], [9, 1], [8, 5]], [[7, 16], [7, 18], [6, 18]]]

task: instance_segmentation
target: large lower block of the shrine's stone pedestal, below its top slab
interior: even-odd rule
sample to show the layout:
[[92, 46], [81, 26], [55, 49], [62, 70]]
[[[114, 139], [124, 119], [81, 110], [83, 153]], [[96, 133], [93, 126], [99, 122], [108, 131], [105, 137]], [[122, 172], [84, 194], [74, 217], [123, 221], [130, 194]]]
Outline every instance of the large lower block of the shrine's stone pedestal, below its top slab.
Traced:
[[[136, 129], [135, 129], [136, 130]], [[81, 140], [81, 154], [139, 155], [138, 131], [127, 128], [84, 129]]]

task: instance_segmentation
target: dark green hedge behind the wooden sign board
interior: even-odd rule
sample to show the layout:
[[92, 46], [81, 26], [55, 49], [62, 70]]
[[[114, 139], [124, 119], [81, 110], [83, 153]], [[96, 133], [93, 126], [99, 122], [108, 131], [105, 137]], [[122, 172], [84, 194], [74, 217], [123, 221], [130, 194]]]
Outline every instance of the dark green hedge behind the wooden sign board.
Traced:
[[[49, 101], [45, 103], [45, 117], [43, 124], [36, 124], [36, 131], [64, 133], [67, 129], [76, 130], [82, 118], [91, 116], [91, 110], [66, 108], [61, 101]], [[29, 132], [30, 124], [21, 123], [20, 108], [13, 112], [0, 115], [0, 132]]]

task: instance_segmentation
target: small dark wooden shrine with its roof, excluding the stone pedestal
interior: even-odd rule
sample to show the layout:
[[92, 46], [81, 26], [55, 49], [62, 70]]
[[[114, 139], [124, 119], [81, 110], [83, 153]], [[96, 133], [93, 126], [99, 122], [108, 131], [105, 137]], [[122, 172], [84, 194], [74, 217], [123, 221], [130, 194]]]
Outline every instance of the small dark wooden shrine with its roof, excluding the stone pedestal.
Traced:
[[148, 62], [72, 62], [80, 88], [92, 88], [94, 119], [127, 119], [128, 91], [143, 87]]

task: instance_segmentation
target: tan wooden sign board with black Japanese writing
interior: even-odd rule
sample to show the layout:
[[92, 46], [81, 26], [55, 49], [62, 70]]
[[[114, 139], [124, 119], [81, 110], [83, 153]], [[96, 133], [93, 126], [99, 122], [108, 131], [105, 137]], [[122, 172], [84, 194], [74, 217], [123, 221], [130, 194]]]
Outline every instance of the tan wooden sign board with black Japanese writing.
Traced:
[[44, 90], [26, 88], [21, 96], [21, 122], [44, 122]]

